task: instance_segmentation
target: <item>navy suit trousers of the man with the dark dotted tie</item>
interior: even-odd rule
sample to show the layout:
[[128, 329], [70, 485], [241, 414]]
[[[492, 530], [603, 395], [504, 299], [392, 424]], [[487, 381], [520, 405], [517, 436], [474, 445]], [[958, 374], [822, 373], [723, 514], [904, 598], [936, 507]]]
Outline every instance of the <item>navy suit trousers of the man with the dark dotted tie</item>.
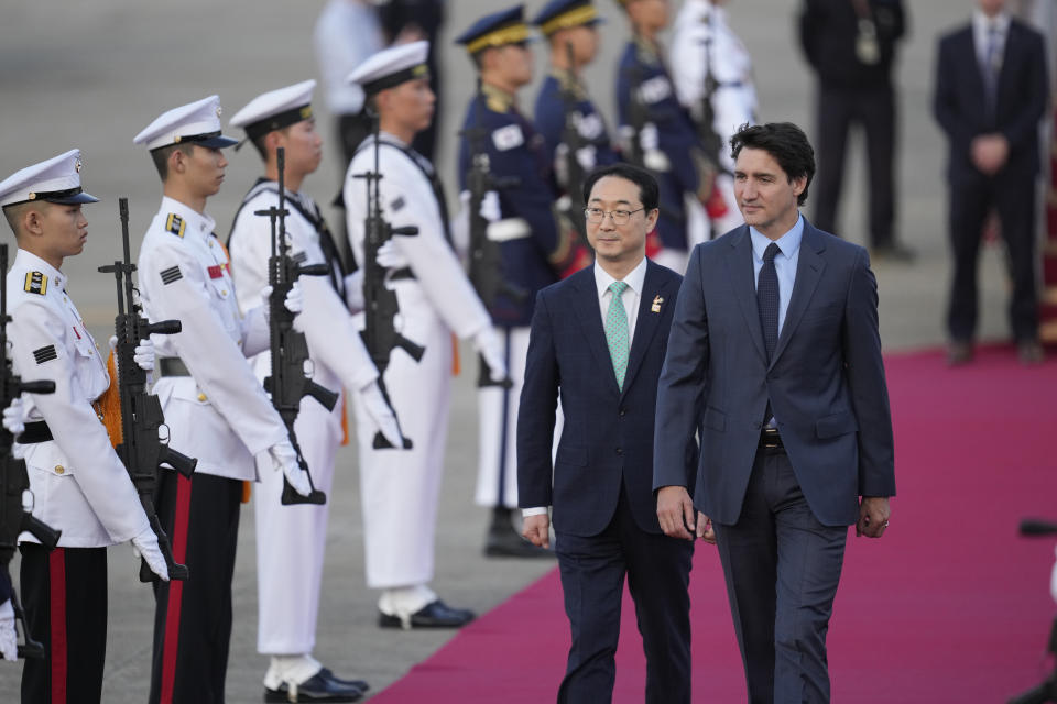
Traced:
[[848, 527], [820, 524], [785, 452], [762, 449], [738, 522], [715, 527], [749, 701], [829, 702], [826, 632]]

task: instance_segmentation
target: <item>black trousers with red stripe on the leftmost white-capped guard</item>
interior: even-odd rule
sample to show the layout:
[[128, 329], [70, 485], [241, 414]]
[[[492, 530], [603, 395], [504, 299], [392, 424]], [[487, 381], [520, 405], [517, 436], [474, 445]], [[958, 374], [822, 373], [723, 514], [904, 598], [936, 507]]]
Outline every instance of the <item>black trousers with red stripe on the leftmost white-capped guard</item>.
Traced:
[[25, 660], [22, 704], [98, 704], [107, 657], [107, 549], [24, 542], [22, 607], [44, 658]]

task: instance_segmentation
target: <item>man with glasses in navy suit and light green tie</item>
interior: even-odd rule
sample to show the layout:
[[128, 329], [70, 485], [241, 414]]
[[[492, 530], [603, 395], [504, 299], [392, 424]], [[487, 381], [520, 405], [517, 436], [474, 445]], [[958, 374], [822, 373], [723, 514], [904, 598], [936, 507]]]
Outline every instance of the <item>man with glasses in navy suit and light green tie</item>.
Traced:
[[[558, 702], [613, 691], [624, 575], [646, 653], [645, 701], [690, 701], [693, 543], [661, 531], [653, 503], [657, 378], [680, 277], [646, 258], [657, 183], [626, 164], [584, 184], [595, 265], [536, 297], [517, 421], [523, 535], [547, 547], [552, 507], [573, 646]], [[552, 464], [555, 407], [565, 426]], [[687, 439], [683, 448], [690, 447]], [[679, 473], [694, 483], [684, 452]]]

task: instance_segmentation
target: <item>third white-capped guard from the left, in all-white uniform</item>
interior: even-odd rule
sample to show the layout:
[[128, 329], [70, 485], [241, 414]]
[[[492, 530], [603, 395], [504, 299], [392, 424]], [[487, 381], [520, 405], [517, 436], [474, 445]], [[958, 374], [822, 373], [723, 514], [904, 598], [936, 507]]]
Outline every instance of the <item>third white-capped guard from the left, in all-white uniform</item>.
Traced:
[[[304, 179], [318, 168], [323, 140], [312, 111], [315, 80], [306, 80], [258, 96], [231, 118], [231, 127], [246, 130], [247, 139], [264, 161], [264, 176], [242, 199], [228, 240], [231, 273], [239, 305], [248, 310], [262, 305], [272, 254], [272, 227], [268, 217], [254, 215], [279, 207], [279, 164], [283, 148], [286, 238], [290, 255], [301, 264], [326, 264], [328, 276], [301, 276], [304, 311], [297, 326], [305, 333], [313, 381], [324, 388], [349, 389], [362, 398], [370, 432], [382, 429], [390, 443], [402, 443], [393, 411], [377, 384], [378, 370], [353, 324], [350, 305], [362, 308], [362, 276], [346, 276], [319, 207], [302, 193]], [[271, 354], [253, 359], [259, 380], [272, 373]], [[316, 488], [330, 494], [334, 461], [341, 444], [341, 400], [333, 410], [314, 398], [301, 403], [294, 432], [308, 463]], [[397, 453], [399, 454], [399, 453]], [[305, 701], [353, 702], [367, 689], [362, 680], [341, 680], [312, 657], [319, 614], [319, 588], [330, 503], [283, 506], [282, 475], [259, 468], [257, 493], [257, 649], [271, 657], [264, 675], [264, 701], [286, 702], [296, 685]]]

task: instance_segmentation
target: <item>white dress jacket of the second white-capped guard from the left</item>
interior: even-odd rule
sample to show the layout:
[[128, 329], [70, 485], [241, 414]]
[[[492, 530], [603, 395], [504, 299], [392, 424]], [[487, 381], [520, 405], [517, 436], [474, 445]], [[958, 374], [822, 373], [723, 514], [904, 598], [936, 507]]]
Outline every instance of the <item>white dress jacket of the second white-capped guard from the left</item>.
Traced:
[[[152, 321], [179, 320], [176, 334], [154, 336], [159, 358], [178, 356], [190, 376], [154, 386], [174, 448], [193, 449], [197, 474], [257, 479], [254, 457], [286, 439], [286, 427], [247, 363], [268, 348], [261, 308], [239, 310], [214, 220], [162, 198], [139, 257], [143, 308]], [[185, 454], [188, 451], [185, 451]]]

